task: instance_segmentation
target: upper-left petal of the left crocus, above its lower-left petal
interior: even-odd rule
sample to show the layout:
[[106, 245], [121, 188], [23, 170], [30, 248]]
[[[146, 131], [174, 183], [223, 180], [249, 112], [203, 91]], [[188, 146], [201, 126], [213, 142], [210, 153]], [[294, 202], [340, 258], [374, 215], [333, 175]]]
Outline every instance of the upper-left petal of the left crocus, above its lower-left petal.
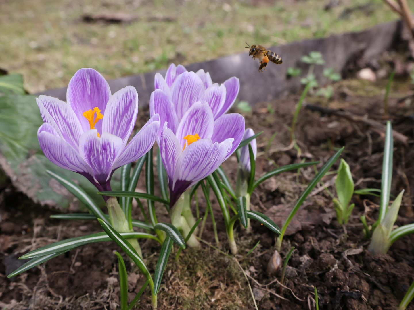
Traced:
[[77, 149], [82, 127], [72, 108], [53, 97], [40, 95], [36, 98], [43, 122], [51, 124], [60, 136]]

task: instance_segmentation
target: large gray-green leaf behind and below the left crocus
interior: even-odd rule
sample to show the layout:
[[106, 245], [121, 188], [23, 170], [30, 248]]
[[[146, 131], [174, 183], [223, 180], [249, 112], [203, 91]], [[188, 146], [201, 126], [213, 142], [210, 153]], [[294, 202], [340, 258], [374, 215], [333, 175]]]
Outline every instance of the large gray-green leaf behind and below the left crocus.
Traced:
[[[79, 184], [100, 206], [102, 197], [87, 179], [75, 172], [61, 169], [42, 153], [37, 129], [43, 123], [34, 96], [0, 96], [0, 167], [13, 185], [36, 203], [60, 211], [79, 210], [80, 203], [46, 169]], [[119, 189], [119, 171], [112, 178], [112, 188]], [[86, 210], [83, 206], [81, 210]]]

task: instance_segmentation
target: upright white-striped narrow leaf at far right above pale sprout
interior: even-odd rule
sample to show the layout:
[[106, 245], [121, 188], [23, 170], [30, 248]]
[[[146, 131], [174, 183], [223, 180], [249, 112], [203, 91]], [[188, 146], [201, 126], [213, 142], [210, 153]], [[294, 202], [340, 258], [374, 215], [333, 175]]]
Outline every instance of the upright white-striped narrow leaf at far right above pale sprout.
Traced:
[[377, 223], [381, 222], [387, 213], [388, 204], [390, 203], [391, 180], [392, 180], [392, 153], [394, 142], [392, 139], [391, 122], [387, 122], [387, 130], [385, 132], [384, 157], [383, 157], [383, 173], [381, 178], [381, 198], [380, 210]]

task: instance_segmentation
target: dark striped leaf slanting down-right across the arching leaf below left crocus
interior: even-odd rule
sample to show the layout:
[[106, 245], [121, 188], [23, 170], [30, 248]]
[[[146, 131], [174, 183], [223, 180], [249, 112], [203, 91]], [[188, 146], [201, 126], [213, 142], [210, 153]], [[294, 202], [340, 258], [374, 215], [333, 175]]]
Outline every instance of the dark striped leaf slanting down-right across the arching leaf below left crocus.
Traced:
[[[134, 262], [135, 265], [141, 270], [141, 272], [144, 274], [144, 276], [149, 280], [149, 284], [151, 286], [151, 290], [154, 288], [154, 282], [152, 281], [151, 274], [149, 274], [149, 271], [147, 269], [147, 266], [145, 266], [144, 261], [142, 258], [140, 258], [140, 255], [138, 255], [137, 251], [131, 246], [131, 244], [123, 237], [121, 234], [118, 233], [111, 225], [103, 222], [102, 219], [98, 219], [99, 223], [101, 224], [103, 230], [108, 234], [108, 236], [111, 237], [113, 241], [115, 241], [118, 246], [125, 252], [126, 255], [128, 255]], [[132, 237], [135, 238], [135, 237]]]

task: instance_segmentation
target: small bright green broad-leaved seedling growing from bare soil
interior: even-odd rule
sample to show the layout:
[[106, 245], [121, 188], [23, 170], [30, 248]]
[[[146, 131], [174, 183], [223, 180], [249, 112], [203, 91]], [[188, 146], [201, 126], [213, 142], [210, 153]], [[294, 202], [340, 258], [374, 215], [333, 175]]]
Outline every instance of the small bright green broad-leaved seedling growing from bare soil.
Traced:
[[337, 221], [340, 225], [346, 225], [355, 206], [354, 203], [349, 205], [354, 194], [354, 181], [352, 180], [349, 165], [343, 159], [341, 159], [341, 163], [339, 164], [335, 188], [338, 199], [334, 198], [333, 203], [337, 214]]

